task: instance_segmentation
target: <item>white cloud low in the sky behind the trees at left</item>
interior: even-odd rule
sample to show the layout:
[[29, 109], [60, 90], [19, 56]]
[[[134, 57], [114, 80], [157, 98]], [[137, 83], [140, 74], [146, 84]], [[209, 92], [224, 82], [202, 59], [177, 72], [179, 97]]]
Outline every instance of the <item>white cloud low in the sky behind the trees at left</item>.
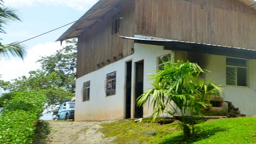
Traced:
[[61, 48], [62, 46], [60, 46], [59, 42], [37, 44], [28, 50], [24, 61], [21, 59], [1, 59], [0, 74], [2, 76], [0, 79], [10, 81], [21, 76], [28, 76], [28, 72], [40, 68], [40, 63], [36, 63], [40, 56], [50, 56]]

